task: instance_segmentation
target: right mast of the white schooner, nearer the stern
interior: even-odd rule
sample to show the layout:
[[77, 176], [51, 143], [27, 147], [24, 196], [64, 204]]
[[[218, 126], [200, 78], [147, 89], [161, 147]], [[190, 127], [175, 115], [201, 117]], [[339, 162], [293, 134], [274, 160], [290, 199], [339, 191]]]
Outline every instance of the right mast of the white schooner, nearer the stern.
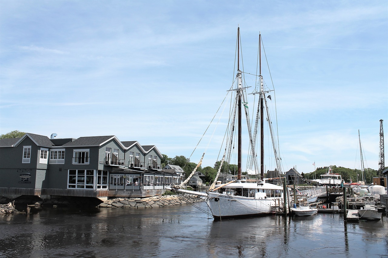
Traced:
[[262, 76], [262, 35], [259, 34], [259, 73], [260, 73], [260, 177], [264, 179], [264, 86]]

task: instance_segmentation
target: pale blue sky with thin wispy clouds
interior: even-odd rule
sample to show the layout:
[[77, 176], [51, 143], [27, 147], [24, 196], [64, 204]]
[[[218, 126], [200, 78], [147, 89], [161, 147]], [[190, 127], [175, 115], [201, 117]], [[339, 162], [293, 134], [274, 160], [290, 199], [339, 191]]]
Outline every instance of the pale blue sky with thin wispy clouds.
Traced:
[[358, 130], [365, 167], [378, 169], [386, 0], [0, 0], [0, 134], [116, 135], [190, 157], [234, 79], [238, 25], [245, 72], [262, 34], [284, 169], [359, 169]]

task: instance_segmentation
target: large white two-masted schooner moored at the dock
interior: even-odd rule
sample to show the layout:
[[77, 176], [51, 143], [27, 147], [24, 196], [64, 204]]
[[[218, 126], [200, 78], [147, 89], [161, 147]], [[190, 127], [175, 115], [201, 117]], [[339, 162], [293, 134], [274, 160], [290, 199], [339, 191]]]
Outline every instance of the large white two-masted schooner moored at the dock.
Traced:
[[[261, 35], [259, 35], [259, 60], [261, 60]], [[232, 217], [246, 217], [246, 216], [255, 216], [263, 215], [269, 213], [275, 213], [279, 211], [279, 207], [284, 207], [284, 202], [287, 200], [287, 193], [284, 192], [286, 189], [283, 186], [270, 184], [265, 182], [264, 179], [264, 134], [263, 134], [263, 121], [269, 120], [268, 107], [265, 99], [265, 93], [268, 91], [264, 90], [263, 76], [261, 74], [261, 61], [260, 62], [260, 74], [258, 75], [258, 92], [253, 94], [259, 94], [260, 100], [258, 105], [258, 114], [257, 119], [260, 118], [260, 168], [256, 160], [256, 137], [253, 137], [253, 134], [257, 133], [258, 122], [256, 120], [254, 132], [251, 132], [249, 116], [248, 116], [248, 107], [246, 100], [246, 88], [243, 87], [242, 74], [243, 71], [240, 69], [240, 29], [237, 29], [237, 75], [234, 81], [230, 92], [235, 93], [233, 108], [230, 112], [230, 123], [228, 125], [229, 132], [231, 136], [227, 139], [229, 144], [225, 146], [225, 153], [222, 158], [218, 173], [214, 179], [213, 184], [210, 186], [210, 189], [206, 193], [189, 191], [186, 189], [181, 189], [181, 187], [189, 180], [191, 175], [194, 174], [195, 170], [189, 176], [186, 181], [182, 182], [179, 186], [171, 187], [171, 190], [177, 191], [180, 193], [195, 194], [197, 196], [202, 196], [206, 199], [206, 203], [210, 208], [211, 214], [214, 218], [232, 218]], [[270, 98], [270, 96], [269, 96]], [[267, 116], [264, 116], [264, 105], [266, 106]], [[255, 174], [256, 179], [241, 179], [241, 167], [242, 167], [242, 107], [244, 107], [247, 125], [248, 125], [248, 135], [249, 135], [249, 148], [250, 148], [250, 164], [252, 165], [250, 171]], [[237, 121], [236, 121], [237, 116]], [[270, 122], [270, 121], [268, 121]], [[270, 127], [271, 128], [271, 127]], [[226, 182], [224, 184], [217, 181], [218, 175], [222, 164], [225, 160], [225, 157], [228, 157], [228, 151], [234, 149], [234, 134], [237, 131], [237, 179]], [[271, 131], [272, 133], [272, 131]], [[274, 143], [273, 135], [272, 143], [274, 147], [274, 152], [276, 152], [276, 144]], [[233, 142], [233, 143], [232, 143]], [[203, 156], [202, 156], [203, 157]], [[226, 159], [228, 160], [228, 159]], [[276, 157], [277, 171], [281, 171], [280, 167], [280, 158]], [[198, 166], [201, 164], [199, 162]], [[248, 169], [247, 169], [248, 170]], [[217, 184], [218, 183], [218, 184]], [[168, 188], [167, 188], [168, 189]], [[289, 204], [287, 205], [289, 206]]]

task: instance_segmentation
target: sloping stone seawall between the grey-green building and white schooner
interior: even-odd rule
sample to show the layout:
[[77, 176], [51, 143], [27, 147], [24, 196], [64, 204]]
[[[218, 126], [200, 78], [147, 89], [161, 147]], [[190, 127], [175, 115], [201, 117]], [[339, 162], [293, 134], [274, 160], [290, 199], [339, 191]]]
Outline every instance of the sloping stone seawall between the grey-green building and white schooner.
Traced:
[[203, 201], [199, 197], [183, 198], [179, 195], [152, 196], [147, 198], [114, 198], [101, 203], [100, 208], [135, 208], [147, 209], [158, 208], [168, 205], [182, 205], [185, 203], [195, 203]]

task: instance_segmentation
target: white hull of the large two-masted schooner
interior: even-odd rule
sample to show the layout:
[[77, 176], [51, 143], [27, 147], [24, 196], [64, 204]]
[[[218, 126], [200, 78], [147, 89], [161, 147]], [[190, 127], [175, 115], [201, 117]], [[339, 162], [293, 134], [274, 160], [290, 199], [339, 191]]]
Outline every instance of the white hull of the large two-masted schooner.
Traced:
[[248, 217], [275, 213], [275, 200], [279, 199], [255, 199], [213, 192], [208, 192], [208, 195], [212, 198], [206, 203], [214, 218]]

